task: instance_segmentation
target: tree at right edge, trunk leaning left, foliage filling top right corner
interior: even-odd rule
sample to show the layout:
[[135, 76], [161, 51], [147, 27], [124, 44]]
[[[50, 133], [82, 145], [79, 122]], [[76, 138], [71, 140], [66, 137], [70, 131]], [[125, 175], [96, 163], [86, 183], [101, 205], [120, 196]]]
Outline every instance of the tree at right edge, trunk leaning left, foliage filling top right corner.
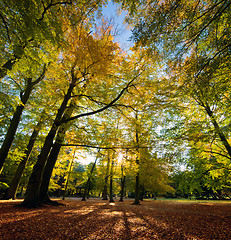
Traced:
[[208, 114], [229, 155], [230, 144], [216, 114], [226, 108], [230, 92], [230, 5], [230, 1], [150, 1], [133, 15], [133, 20], [139, 19], [134, 40], [147, 46], [151, 55], [162, 57], [179, 91]]

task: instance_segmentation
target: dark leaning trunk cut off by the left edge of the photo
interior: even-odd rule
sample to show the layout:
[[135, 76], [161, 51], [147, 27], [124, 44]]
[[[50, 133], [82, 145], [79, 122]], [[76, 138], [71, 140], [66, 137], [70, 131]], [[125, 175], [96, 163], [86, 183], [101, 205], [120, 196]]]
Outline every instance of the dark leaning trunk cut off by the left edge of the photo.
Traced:
[[30, 97], [32, 89], [33, 89], [33, 83], [31, 81], [28, 81], [25, 92], [21, 96], [22, 104], [17, 106], [16, 111], [13, 115], [12, 120], [11, 120], [10, 126], [8, 128], [8, 131], [6, 133], [5, 139], [3, 141], [3, 144], [0, 148], [0, 174], [2, 172], [3, 165], [6, 161], [7, 155], [10, 151], [11, 146], [12, 146], [14, 136], [15, 136], [15, 133], [16, 133], [17, 128], [18, 128], [18, 124], [19, 124], [21, 116], [22, 116], [22, 112], [24, 110], [25, 104], [27, 103], [27, 101]]

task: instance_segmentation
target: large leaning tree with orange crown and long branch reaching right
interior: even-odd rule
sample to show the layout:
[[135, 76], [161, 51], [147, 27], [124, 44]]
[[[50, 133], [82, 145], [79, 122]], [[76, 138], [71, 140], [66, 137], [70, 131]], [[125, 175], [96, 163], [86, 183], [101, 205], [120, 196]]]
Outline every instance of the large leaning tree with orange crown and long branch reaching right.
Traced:
[[[107, 68], [110, 68], [110, 65], [111, 65], [110, 62], [113, 61], [115, 57], [113, 52], [117, 49], [116, 44], [114, 44], [110, 38], [105, 38], [105, 35], [102, 36], [102, 39], [100, 39], [100, 35], [96, 35], [96, 38], [94, 39], [84, 29], [80, 29], [80, 30], [83, 32], [80, 32], [80, 36], [78, 36], [78, 39], [76, 40], [80, 41], [79, 44], [81, 48], [77, 48], [77, 51], [72, 52], [72, 54], [74, 54], [73, 55], [74, 59], [70, 59], [70, 62], [72, 64], [71, 71], [70, 71], [70, 75], [71, 75], [70, 84], [68, 86], [67, 93], [64, 96], [63, 102], [55, 117], [55, 120], [52, 124], [52, 127], [46, 137], [41, 153], [38, 156], [38, 161], [34, 166], [34, 170], [30, 177], [30, 181], [27, 187], [26, 197], [24, 202], [22, 203], [22, 205], [25, 205], [25, 206], [34, 206], [39, 204], [39, 189], [41, 185], [43, 169], [44, 169], [44, 166], [46, 165], [49, 152], [53, 146], [53, 139], [60, 125], [84, 116], [94, 115], [108, 109], [117, 100], [121, 98], [125, 90], [128, 89], [128, 87], [132, 84], [132, 82], [140, 75], [140, 72], [137, 75], [135, 75], [135, 77], [133, 77], [125, 85], [124, 88], [122, 88], [122, 90], [117, 95], [117, 97], [115, 97], [113, 100], [107, 103], [104, 107], [101, 107], [98, 110], [93, 110], [91, 112], [77, 114], [76, 116], [70, 117], [69, 119], [64, 119], [63, 114], [68, 106], [68, 102], [73, 97], [72, 94], [74, 92], [74, 89], [77, 89], [77, 91], [80, 91], [81, 88], [85, 87], [83, 83], [88, 84], [88, 82], [90, 82], [89, 80], [91, 79], [91, 77], [93, 78], [92, 74], [95, 74], [96, 79], [98, 79], [99, 76], [104, 74]], [[73, 38], [71, 40], [73, 40]], [[105, 40], [109, 41], [108, 44], [105, 44]], [[97, 48], [97, 51], [100, 50], [101, 54], [100, 52], [98, 52], [97, 54], [92, 53], [93, 55], [91, 55], [92, 48], [88, 48], [88, 47], [83, 48], [83, 44], [96, 44], [98, 46], [98, 44], [100, 44], [101, 42], [103, 44], [102, 47]], [[81, 49], [81, 52], [80, 52], [81, 55], [76, 55], [79, 49]], [[71, 51], [73, 50], [71, 49]], [[65, 53], [65, 54], [67, 54], [67, 59], [69, 59], [71, 55], [69, 55], [69, 53]], [[81, 58], [84, 61], [82, 61]], [[102, 67], [102, 69], [104, 69], [100, 73], [98, 72], [99, 66]], [[79, 90], [78, 88], [76, 88], [77, 85], [79, 85]], [[77, 93], [77, 96], [81, 97], [82, 96], [81, 92], [80, 94]]]

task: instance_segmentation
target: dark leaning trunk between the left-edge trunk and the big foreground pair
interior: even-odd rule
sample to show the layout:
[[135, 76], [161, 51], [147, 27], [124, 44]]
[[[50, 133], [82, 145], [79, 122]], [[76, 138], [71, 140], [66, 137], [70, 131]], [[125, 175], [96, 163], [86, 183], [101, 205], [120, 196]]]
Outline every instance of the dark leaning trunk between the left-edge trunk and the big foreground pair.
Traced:
[[25, 169], [25, 166], [26, 166], [26, 163], [27, 163], [27, 161], [30, 157], [30, 154], [32, 152], [34, 143], [35, 143], [35, 141], [38, 137], [38, 133], [42, 128], [42, 124], [43, 124], [43, 117], [41, 117], [37, 126], [35, 127], [32, 135], [30, 137], [29, 143], [28, 143], [28, 145], [25, 149], [25, 156], [23, 157], [22, 161], [19, 163], [18, 168], [15, 172], [14, 178], [13, 178], [11, 184], [10, 184], [10, 187], [9, 187], [9, 190], [8, 190], [8, 193], [7, 193], [7, 198], [8, 199], [10, 199], [10, 198], [15, 199], [16, 191], [17, 191], [22, 173], [23, 173], [23, 171]]

